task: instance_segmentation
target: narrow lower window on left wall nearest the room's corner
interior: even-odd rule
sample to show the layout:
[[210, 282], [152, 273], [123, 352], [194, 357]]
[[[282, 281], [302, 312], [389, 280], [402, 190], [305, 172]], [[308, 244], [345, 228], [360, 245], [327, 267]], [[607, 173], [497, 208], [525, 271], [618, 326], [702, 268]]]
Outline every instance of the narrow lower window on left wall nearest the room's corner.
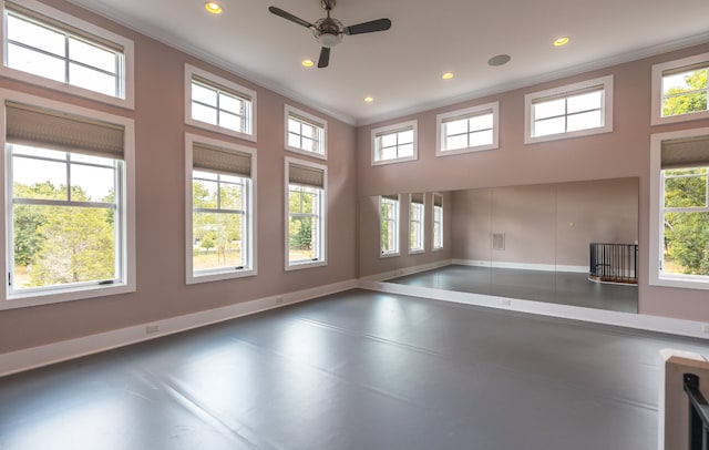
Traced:
[[286, 269], [326, 264], [327, 168], [286, 158]]

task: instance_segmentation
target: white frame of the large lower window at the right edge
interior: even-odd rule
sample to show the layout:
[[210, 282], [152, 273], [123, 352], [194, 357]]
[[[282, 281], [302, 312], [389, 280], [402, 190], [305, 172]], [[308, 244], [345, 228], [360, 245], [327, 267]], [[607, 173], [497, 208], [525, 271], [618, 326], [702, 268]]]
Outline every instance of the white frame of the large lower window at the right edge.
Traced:
[[[650, 134], [650, 207], [649, 207], [649, 265], [650, 286], [709, 290], [709, 276], [662, 274], [662, 246], [665, 239], [665, 186], [661, 174], [662, 142], [709, 136], [709, 127], [680, 130]], [[709, 201], [709, 198], [708, 198]]]

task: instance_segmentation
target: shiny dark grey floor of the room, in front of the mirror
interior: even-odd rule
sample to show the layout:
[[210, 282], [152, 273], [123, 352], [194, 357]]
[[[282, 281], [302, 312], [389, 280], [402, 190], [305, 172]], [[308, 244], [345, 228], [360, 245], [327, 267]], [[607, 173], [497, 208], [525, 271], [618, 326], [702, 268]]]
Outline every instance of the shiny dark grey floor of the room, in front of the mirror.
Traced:
[[0, 449], [654, 450], [662, 348], [350, 290], [0, 378]]

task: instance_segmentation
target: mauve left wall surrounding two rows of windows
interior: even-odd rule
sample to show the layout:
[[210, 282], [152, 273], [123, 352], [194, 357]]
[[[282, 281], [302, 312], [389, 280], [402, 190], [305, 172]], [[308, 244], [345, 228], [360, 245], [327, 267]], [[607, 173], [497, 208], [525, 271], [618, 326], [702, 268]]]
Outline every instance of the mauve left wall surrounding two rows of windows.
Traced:
[[[63, 1], [47, 1], [135, 42], [135, 111], [0, 80], [0, 86], [125, 115], [135, 120], [137, 292], [0, 311], [0, 354], [140, 325], [357, 277], [354, 129], [328, 119], [328, 265], [284, 270], [284, 104], [308, 111], [258, 85]], [[258, 93], [258, 142], [210, 134], [184, 124], [184, 64], [188, 62]], [[322, 114], [314, 112], [318, 116]], [[257, 149], [258, 275], [185, 285], [184, 134]], [[319, 160], [312, 160], [318, 161]]]

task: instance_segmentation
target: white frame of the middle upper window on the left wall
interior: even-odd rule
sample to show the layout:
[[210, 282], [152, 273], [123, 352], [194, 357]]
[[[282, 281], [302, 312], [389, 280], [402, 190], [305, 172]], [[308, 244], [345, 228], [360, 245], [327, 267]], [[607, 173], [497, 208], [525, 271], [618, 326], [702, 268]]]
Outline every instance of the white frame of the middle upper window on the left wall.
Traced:
[[[192, 83], [197, 81], [202, 84], [206, 84], [209, 89], [216, 91], [224, 91], [232, 96], [236, 96], [247, 102], [247, 111], [245, 112], [245, 132], [230, 130], [218, 124], [212, 124], [209, 122], [203, 122], [192, 117]], [[217, 109], [217, 111], [220, 111]], [[257, 141], [257, 93], [256, 91], [243, 86], [234, 81], [215, 75], [206, 70], [196, 68], [192, 64], [185, 63], [185, 124], [195, 126], [197, 129], [212, 131], [219, 134], [226, 134], [228, 136], [238, 137], [245, 141]]]

